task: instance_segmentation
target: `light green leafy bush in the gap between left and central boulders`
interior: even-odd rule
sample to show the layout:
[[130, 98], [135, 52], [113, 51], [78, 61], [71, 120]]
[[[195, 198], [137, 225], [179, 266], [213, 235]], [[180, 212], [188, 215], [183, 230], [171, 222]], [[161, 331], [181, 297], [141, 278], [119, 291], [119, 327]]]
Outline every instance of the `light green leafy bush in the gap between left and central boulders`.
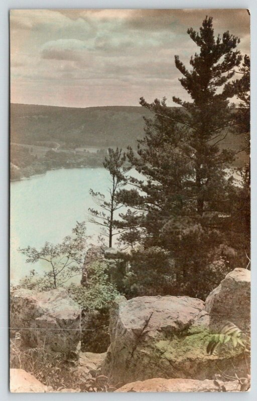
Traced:
[[69, 294], [84, 311], [108, 309], [110, 301], [119, 295], [115, 286], [109, 283], [108, 266], [97, 262], [88, 266], [87, 285], [71, 284]]

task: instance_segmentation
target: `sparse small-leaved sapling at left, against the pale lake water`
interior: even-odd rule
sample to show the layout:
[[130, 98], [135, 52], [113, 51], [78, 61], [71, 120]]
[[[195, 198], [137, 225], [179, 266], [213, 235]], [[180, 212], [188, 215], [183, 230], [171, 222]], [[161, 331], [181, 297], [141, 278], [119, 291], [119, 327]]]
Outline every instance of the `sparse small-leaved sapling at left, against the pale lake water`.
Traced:
[[[72, 229], [72, 236], [67, 236], [60, 244], [54, 245], [46, 242], [45, 245], [37, 250], [34, 247], [19, 249], [27, 257], [27, 263], [47, 262], [50, 268], [44, 272], [41, 279], [31, 280], [31, 286], [40, 284], [41, 290], [57, 288], [65, 284], [71, 278], [82, 274], [83, 261], [86, 247], [86, 226], [85, 222], [77, 222]], [[35, 270], [31, 276], [36, 275]], [[39, 285], [39, 286], [40, 286]]]

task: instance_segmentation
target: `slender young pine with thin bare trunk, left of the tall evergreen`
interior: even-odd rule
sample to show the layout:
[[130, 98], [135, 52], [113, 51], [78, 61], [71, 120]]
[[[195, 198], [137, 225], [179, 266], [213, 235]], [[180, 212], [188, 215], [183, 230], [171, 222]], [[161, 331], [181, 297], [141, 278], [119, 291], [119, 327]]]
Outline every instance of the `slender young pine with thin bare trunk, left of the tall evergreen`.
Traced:
[[102, 227], [102, 234], [109, 239], [109, 248], [112, 247], [113, 236], [119, 233], [114, 233], [114, 214], [122, 207], [116, 194], [117, 190], [125, 185], [124, 172], [127, 171], [127, 168], [124, 167], [125, 160], [126, 156], [122, 154], [122, 149], [116, 148], [116, 150], [113, 150], [109, 148], [108, 157], [105, 157], [103, 162], [104, 168], [109, 171], [111, 176], [111, 186], [108, 189], [109, 197], [106, 199], [103, 193], [95, 192], [93, 189], [89, 191], [94, 203], [101, 210], [89, 208], [90, 218], [88, 221]]

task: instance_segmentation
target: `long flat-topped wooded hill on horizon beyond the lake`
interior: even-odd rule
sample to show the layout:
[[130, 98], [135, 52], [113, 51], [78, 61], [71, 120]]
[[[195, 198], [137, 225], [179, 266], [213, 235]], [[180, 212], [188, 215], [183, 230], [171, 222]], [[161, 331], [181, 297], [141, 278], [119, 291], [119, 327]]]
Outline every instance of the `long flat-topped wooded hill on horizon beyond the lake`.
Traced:
[[13, 103], [11, 141], [125, 147], [143, 137], [144, 115], [150, 116], [150, 112], [140, 106], [74, 108]]

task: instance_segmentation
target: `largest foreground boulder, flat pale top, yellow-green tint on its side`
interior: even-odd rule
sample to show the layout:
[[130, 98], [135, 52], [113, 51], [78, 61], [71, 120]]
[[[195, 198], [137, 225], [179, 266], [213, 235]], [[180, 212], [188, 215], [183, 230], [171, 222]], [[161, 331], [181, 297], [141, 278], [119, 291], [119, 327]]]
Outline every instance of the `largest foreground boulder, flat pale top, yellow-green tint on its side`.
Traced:
[[203, 308], [203, 301], [186, 296], [117, 298], [102, 373], [113, 385], [156, 376], [214, 379], [220, 370], [245, 377], [243, 355], [206, 354], [209, 316]]

